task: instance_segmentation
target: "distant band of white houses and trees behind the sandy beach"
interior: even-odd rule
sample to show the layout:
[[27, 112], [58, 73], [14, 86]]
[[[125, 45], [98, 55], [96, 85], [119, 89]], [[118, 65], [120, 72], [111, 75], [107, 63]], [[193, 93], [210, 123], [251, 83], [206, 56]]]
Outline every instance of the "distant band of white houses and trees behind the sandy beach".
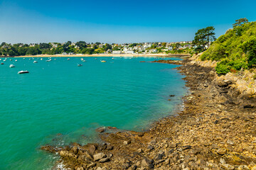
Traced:
[[2, 42], [0, 56], [23, 55], [136, 55], [136, 54], [193, 54], [197, 48], [192, 41], [182, 42], [141, 42], [108, 44], [102, 42], [49, 42], [31, 44], [9, 44]]

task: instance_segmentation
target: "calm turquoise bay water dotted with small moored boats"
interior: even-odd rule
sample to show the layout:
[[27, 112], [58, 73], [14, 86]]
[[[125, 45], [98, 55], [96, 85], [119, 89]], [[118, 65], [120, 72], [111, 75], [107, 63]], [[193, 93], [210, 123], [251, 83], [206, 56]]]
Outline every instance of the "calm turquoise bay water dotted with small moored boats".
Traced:
[[97, 142], [101, 126], [144, 130], [171, 115], [186, 93], [176, 66], [149, 63], [153, 57], [80, 58], [0, 65], [0, 169], [50, 169], [58, 157], [41, 145]]

